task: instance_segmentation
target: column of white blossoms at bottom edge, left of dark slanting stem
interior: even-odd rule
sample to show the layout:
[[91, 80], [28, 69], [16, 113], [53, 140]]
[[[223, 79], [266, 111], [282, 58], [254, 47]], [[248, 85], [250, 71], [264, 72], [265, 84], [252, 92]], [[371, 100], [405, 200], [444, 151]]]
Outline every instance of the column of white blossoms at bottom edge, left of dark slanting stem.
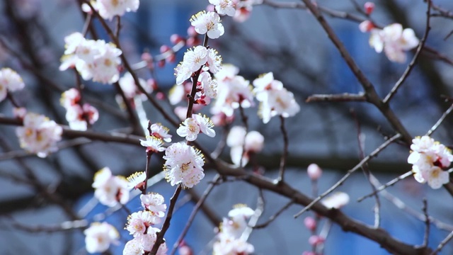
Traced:
[[[123, 249], [124, 255], [147, 254], [156, 243], [157, 232], [160, 229], [153, 227], [161, 222], [165, 216], [167, 205], [164, 204], [164, 197], [158, 193], [140, 195], [144, 210], [133, 212], [127, 217], [125, 229], [134, 238], [128, 241]], [[166, 254], [166, 243], [162, 243], [156, 254]]]

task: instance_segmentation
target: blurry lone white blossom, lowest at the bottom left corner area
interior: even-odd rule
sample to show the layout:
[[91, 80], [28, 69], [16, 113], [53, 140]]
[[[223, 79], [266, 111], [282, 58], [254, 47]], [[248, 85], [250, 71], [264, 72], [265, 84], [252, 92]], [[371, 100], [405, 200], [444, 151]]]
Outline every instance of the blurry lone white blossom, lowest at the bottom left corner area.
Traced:
[[108, 250], [110, 244], [117, 243], [120, 234], [117, 229], [107, 222], [93, 222], [84, 230], [86, 251], [99, 253]]

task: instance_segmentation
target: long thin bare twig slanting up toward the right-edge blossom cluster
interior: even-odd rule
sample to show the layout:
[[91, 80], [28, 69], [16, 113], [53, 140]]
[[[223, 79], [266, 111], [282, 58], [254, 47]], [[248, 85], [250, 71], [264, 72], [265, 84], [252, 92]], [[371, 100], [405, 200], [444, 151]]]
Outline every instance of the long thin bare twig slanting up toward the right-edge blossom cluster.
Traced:
[[332, 191], [334, 191], [336, 188], [338, 188], [339, 186], [341, 186], [345, 181], [346, 179], [349, 178], [349, 176], [354, 173], [355, 171], [357, 171], [357, 169], [360, 169], [360, 167], [362, 167], [363, 164], [367, 163], [370, 159], [372, 159], [373, 157], [376, 157], [377, 154], [379, 154], [379, 152], [381, 152], [383, 149], [385, 149], [387, 146], [389, 146], [392, 142], [394, 142], [395, 140], [399, 139], [401, 137], [400, 134], [396, 134], [394, 135], [393, 137], [391, 137], [389, 140], [386, 140], [386, 142], [384, 142], [381, 146], [377, 147], [377, 149], [374, 149], [374, 151], [369, 154], [367, 157], [365, 157], [364, 159], [362, 159], [362, 161], [360, 161], [359, 164], [357, 164], [356, 166], [354, 166], [354, 168], [350, 169], [348, 171], [348, 173], [345, 174], [345, 176], [343, 176], [342, 179], [340, 179], [340, 181], [338, 181], [337, 183], [335, 183], [333, 186], [331, 186], [331, 188], [329, 188], [326, 192], [322, 193], [320, 196], [318, 196], [317, 198], [315, 198], [313, 201], [311, 201], [311, 203], [309, 203], [309, 205], [306, 205], [306, 207], [304, 209], [302, 209], [300, 212], [297, 212], [296, 215], [294, 215], [294, 217], [299, 217], [300, 215], [302, 215], [302, 213], [306, 212], [307, 210], [310, 210], [310, 208], [319, 202], [319, 200], [323, 199], [325, 196], [327, 196], [328, 194], [330, 194]]

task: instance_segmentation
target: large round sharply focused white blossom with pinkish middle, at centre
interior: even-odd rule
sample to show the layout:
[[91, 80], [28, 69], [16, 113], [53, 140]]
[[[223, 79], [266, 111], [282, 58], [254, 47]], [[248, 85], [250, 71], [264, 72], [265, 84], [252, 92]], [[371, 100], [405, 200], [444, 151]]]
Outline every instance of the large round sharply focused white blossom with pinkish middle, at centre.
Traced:
[[166, 180], [171, 186], [181, 183], [184, 188], [192, 188], [205, 177], [203, 155], [189, 145], [180, 142], [170, 145], [164, 159]]

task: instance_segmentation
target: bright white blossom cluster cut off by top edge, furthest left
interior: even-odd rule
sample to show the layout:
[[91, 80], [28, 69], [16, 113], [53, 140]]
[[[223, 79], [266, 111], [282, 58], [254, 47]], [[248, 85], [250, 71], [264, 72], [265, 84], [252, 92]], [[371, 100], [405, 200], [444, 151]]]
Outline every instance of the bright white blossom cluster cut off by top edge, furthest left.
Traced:
[[[91, 6], [98, 11], [101, 17], [112, 20], [114, 16], [123, 16], [126, 12], [137, 11], [139, 0], [91, 0]], [[88, 4], [82, 4], [82, 9], [91, 12]]]

